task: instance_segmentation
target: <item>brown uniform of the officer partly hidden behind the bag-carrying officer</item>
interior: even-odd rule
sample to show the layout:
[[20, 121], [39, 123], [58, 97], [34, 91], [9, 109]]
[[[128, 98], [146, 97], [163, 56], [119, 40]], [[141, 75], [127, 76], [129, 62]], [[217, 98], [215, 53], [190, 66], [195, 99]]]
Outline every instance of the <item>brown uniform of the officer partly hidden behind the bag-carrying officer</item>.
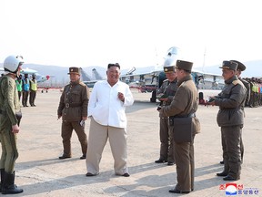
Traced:
[[[162, 86], [157, 90], [157, 95], [164, 94], [167, 96], [167, 101], [161, 101], [160, 105], [168, 106], [170, 105], [174, 95], [176, 94], [177, 90], [177, 79], [172, 82], [169, 82], [168, 79], [163, 81]], [[171, 163], [175, 163], [175, 156], [174, 156], [174, 142], [173, 137], [171, 135], [171, 131], [168, 127], [168, 117], [163, 117], [159, 114], [160, 118], [160, 161], [168, 161]]]

